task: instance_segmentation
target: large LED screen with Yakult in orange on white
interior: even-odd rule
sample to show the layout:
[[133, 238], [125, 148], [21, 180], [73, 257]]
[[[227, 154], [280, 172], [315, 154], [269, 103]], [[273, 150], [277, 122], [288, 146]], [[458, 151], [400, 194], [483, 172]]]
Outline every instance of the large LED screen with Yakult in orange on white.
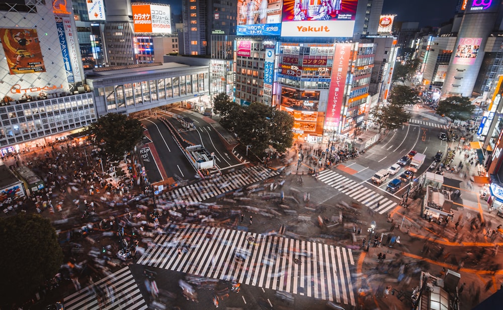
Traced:
[[282, 37], [352, 37], [358, 0], [285, 0]]

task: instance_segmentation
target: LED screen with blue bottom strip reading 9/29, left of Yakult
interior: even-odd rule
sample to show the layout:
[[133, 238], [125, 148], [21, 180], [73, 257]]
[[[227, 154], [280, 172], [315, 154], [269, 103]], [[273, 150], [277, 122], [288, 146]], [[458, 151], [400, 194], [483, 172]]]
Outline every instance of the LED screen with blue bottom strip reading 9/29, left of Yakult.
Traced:
[[283, 0], [237, 0], [238, 36], [279, 36]]

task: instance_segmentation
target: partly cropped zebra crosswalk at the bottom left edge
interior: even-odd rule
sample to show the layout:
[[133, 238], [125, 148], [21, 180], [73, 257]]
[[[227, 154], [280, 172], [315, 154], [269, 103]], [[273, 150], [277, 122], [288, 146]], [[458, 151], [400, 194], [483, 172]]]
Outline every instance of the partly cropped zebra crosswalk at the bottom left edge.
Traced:
[[[95, 288], [93, 288], [95, 286]], [[148, 306], [136, 285], [129, 267], [108, 275], [67, 296], [63, 300], [66, 310], [144, 310]], [[100, 293], [96, 294], [98, 291]], [[97, 297], [100, 295], [100, 297]], [[99, 302], [99, 298], [101, 299]]]

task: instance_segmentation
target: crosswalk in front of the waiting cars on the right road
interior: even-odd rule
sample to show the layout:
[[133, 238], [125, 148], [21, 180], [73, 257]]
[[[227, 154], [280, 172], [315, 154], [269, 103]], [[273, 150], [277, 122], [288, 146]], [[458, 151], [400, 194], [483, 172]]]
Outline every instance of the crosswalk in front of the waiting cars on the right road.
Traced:
[[365, 204], [379, 214], [384, 214], [397, 205], [393, 200], [329, 169], [319, 172], [317, 179]]

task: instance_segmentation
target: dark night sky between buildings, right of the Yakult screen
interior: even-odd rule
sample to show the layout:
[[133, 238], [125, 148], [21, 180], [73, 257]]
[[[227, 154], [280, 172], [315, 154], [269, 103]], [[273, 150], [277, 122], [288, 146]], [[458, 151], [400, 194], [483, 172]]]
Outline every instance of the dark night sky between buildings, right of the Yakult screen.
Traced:
[[383, 14], [396, 14], [400, 22], [419, 22], [420, 27], [440, 26], [454, 17], [458, 0], [384, 0]]

